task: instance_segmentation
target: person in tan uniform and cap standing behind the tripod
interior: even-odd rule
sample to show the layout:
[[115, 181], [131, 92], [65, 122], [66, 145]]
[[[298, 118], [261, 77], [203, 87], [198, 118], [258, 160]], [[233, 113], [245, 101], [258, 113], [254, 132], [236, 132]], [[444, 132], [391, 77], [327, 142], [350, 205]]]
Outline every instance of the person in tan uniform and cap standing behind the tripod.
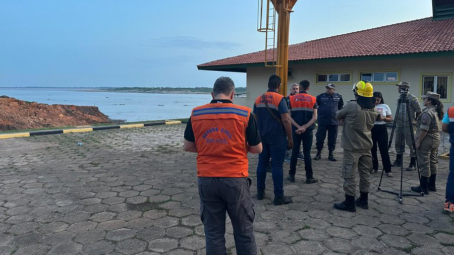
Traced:
[[[398, 91], [400, 94], [402, 94], [402, 90], [409, 90], [410, 89], [410, 83], [406, 81], [402, 81], [399, 84], [396, 84], [398, 87]], [[407, 92], [408, 94], [408, 103], [409, 103], [409, 108], [410, 108], [410, 116], [412, 118], [412, 126], [413, 128], [410, 129], [410, 123], [408, 121], [408, 113], [405, 113], [404, 116], [404, 125], [402, 125], [402, 111], [405, 108], [405, 105], [402, 105], [402, 107], [399, 109], [399, 112], [396, 112], [395, 118], [396, 118], [396, 124], [395, 124], [395, 140], [394, 140], [394, 147], [395, 147], [395, 153], [396, 158], [395, 161], [391, 164], [391, 166], [401, 166], [403, 164], [402, 160], [402, 155], [404, 154], [403, 148], [401, 149], [401, 144], [402, 144], [402, 139], [405, 140], [405, 143], [407, 143], [407, 146], [410, 148], [410, 165], [405, 169], [407, 171], [413, 171], [416, 169], [416, 157], [415, 157], [415, 150], [413, 149], [413, 140], [412, 140], [412, 134], [415, 135], [416, 133], [416, 117], [421, 113], [421, 105], [419, 104], [418, 98]], [[402, 136], [404, 133], [404, 126], [405, 126], [405, 137]]]

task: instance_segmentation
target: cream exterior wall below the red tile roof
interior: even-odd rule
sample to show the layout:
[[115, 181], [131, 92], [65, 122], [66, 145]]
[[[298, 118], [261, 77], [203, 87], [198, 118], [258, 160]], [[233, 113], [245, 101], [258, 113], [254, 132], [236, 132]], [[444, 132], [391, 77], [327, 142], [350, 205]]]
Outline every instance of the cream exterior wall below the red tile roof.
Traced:
[[[324, 85], [316, 84], [316, 73], [320, 72], [349, 72], [352, 73], [352, 82], [348, 85], [336, 85], [336, 92], [344, 96], [347, 102], [353, 99], [353, 83], [360, 79], [359, 74], [364, 71], [399, 71], [400, 81], [408, 81], [411, 84], [410, 92], [416, 96], [421, 95], [422, 81], [421, 74], [426, 73], [450, 73], [448, 81], [448, 102], [444, 102], [445, 108], [451, 106], [454, 101], [452, 73], [454, 72], [454, 57], [436, 57], [436, 58], [403, 58], [389, 60], [372, 60], [372, 61], [345, 61], [345, 62], [328, 62], [328, 63], [311, 63], [289, 67], [292, 70], [292, 76], [289, 77], [289, 85], [298, 83], [301, 80], [308, 80], [311, 83], [309, 94], [318, 95], [325, 91]], [[236, 103], [248, 107], [253, 106], [255, 98], [267, 90], [267, 82], [270, 75], [274, 74], [273, 68], [248, 68], [247, 70], [247, 97], [235, 99]], [[335, 84], [335, 83], [334, 83]], [[290, 90], [290, 88], [289, 88]], [[395, 111], [396, 100], [399, 97], [394, 83], [374, 85], [374, 91], [380, 91], [383, 94], [385, 103], [391, 110]]]

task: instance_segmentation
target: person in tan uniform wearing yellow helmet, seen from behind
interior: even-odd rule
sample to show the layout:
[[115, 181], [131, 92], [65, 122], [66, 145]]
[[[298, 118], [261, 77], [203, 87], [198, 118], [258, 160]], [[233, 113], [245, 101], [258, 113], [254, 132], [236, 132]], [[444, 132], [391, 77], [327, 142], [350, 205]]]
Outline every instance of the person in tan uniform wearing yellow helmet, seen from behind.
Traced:
[[[356, 206], [368, 208], [370, 173], [372, 171], [372, 127], [378, 117], [375, 109], [372, 84], [364, 81], [353, 86], [356, 100], [350, 100], [336, 112], [336, 118], [344, 122], [341, 147], [344, 148], [342, 177], [344, 177], [345, 201], [335, 203], [334, 208], [356, 212]], [[360, 176], [360, 198], [355, 201], [357, 176]]]

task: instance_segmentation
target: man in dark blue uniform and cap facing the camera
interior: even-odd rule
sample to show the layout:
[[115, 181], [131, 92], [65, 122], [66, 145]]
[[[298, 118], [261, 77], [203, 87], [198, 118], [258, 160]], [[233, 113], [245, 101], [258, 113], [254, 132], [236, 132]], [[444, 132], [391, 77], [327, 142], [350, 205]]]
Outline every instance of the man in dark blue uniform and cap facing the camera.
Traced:
[[315, 134], [315, 138], [317, 139], [315, 144], [317, 154], [314, 160], [321, 158], [320, 154], [323, 149], [323, 143], [325, 142], [326, 132], [328, 132], [328, 159], [330, 161], [337, 161], [332, 154], [336, 148], [337, 126], [339, 125], [339, 121], [336, 119], [336, 111], [344, 107], [344, 100], [341, 94], [334, 92], [335, 87], [334, 84], [328, 83], [325, 86], [326, 92], [317, 96], [318, 129]]

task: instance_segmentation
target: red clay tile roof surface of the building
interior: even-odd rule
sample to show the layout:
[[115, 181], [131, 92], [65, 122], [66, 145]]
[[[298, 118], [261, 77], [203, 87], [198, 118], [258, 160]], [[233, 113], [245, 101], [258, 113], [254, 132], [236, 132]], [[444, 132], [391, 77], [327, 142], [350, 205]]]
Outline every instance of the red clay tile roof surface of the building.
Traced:
[[[454, 19], [425, 18], [289, 46], [289, 61], [454, 51]], [[197, 67], [263, 63], [265, 51], [227, 57]]]

